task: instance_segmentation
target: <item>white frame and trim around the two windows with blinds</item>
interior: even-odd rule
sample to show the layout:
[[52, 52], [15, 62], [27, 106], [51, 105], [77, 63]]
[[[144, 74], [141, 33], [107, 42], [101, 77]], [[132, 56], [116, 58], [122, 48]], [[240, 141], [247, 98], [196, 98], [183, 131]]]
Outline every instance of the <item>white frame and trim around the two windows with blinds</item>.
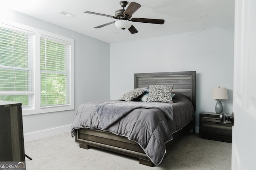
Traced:
[[[22, 106], [22, 115], [31, 115], [31, 114], [38, 114], [38, 113], [50, 113], [56, 111], [66, 111], [74, 109], [74, 39], [68, 38], [62, 35], [58, 35], [55, 33], [51, 33], [48, 31], [44, 31], [42, 29], [38, 29], [35, 27], [31, 27], [28, 25], [24, 25], [22, 23], [17, 23], [15, 21], [10, 21], [6, 19], [0, 19], [0, 25], [4, 25], [8, 29], [13, 29], [16, 27], [18, 29], [22, 29], [24, 31], [34, 33], [34, 59], [31, 61], [33, 62], [33, 70], [34, 73], [34, 94], [29, 95], [29, 105], [30, 106]], [[51, 107], [41, 107], [40, 98], [41, 98], [41, 85], [40, 85], [40, 37], [41, 35], [46, 35], [48, 37], [53, 37], [54, 39], [59, 39], [61, 41], [70, 42], [70, 105], [57, 105]]]

